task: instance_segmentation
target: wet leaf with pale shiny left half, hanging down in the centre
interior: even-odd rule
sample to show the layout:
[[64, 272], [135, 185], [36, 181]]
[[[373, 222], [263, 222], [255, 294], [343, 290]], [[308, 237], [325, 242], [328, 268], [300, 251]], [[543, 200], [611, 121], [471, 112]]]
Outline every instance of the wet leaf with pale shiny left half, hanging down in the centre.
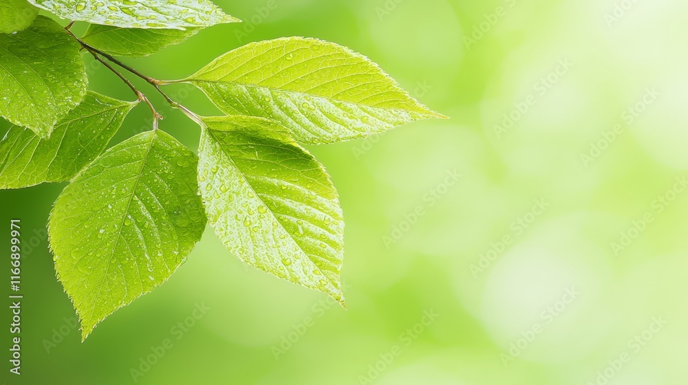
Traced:
[[246, 263], [344, 304], [344, 221], [316, 159], [264, 118], [202, 118], [198, 180], [215, 234]]

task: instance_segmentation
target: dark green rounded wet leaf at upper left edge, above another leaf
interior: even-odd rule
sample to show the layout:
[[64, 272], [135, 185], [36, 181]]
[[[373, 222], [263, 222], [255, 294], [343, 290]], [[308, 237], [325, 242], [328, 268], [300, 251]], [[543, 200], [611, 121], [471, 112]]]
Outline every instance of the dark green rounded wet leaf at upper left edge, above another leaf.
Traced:
[[64, 28], [43, 16], [17, 34], [0, 34], [0, 115], [50, 137], [86, 94], [79, 48]]

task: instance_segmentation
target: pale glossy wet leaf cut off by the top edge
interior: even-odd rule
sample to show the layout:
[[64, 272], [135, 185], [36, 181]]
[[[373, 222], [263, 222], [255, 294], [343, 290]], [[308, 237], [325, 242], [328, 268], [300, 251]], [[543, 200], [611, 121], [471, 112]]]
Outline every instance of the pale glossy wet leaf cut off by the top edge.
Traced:
[[184, 30], [239, 19], [208, 0], [29, 0], [36, 7], [70, 20], [124, 28]]

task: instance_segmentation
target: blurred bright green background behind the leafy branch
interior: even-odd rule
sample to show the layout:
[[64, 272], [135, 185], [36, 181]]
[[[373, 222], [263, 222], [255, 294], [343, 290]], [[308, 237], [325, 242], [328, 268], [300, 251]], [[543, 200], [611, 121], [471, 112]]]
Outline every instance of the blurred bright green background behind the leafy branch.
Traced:
[[[8, 374], [3, 326], [4, 382], [688, 383], [688, 3], [216, 2], [246, 22], [127, 63], [182, 78], [249, 41], [314, 36], [451, 117], [309, 148], [341, 195], [348, 310], [244, 265], [208, 229], [168, 283], [82, 343], [45, 239], [65, 184], [2, 191], [0, 220], [21, 219], [25, 243], [23, 374]], [[85, 60], [92, 89], [132, 99]], [[169, 91], [216, 113], [200, 91]], [[148, 94], [195, 148], [197, 126]], [[141, 105], [112, 144], [149, 126]]]

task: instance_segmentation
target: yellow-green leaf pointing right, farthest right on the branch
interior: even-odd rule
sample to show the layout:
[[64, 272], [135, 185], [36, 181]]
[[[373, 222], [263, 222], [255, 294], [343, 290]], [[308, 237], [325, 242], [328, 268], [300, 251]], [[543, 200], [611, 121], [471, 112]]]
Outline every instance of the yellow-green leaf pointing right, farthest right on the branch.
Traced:
[[200, 87], [228, 115], [276, 120], [306, 144], [444, 118], [413, 100], [368, 58], [317, 39], [250, 43], [170, 83], [178, 82]]

